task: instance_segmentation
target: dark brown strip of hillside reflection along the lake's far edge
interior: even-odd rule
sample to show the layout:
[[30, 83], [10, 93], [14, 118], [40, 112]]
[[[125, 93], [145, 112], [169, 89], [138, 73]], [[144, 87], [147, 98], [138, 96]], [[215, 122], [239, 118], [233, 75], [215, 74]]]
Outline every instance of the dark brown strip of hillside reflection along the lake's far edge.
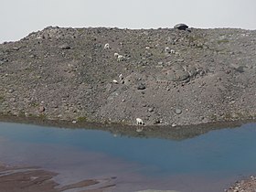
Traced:
[[255, 123], [255, 120], [243, 120], [232, 122], [219, 122], [219, 123], [201, 123], [191, 124], [185, 126], [170, 126], [170, 125], [123, 125], [118, 123], [87, 123], [78, 122], [73, 123], [69, 121], [56, 121], [41, 119], [35, 117], [18, 117], [13, 115], [0, 115], [0, 122], [3, 123], [25, 123], [35, 124], [38, 126], [50, 126], [56, 128], [69, 128], [69, 129], [91, 129], [101, 130], [112, 133], [113, 135], [126, 135], [133, 137], [148, 137], [148, 138], [162, 138], [171, 140], [184, 140], [193, 138], [200, 134], [208, 133], [214, 130], [237, 128], [245, 123]]

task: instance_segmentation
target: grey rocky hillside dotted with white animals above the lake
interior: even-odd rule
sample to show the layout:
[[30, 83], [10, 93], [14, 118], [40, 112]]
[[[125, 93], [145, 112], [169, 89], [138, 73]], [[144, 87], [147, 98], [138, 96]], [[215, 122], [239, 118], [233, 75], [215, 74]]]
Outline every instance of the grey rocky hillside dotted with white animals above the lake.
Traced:
[[47, 27], [0, 45], [0, 112], [185, 125], [256, 117], [256, 31]]

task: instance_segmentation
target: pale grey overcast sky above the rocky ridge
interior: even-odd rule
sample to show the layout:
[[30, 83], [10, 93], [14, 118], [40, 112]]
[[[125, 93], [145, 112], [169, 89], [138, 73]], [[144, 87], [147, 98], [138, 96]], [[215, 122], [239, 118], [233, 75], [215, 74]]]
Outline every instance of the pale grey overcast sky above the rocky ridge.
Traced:
[[48, 26], [256, 29], [256, 0], [0, 0], [0, 43]]

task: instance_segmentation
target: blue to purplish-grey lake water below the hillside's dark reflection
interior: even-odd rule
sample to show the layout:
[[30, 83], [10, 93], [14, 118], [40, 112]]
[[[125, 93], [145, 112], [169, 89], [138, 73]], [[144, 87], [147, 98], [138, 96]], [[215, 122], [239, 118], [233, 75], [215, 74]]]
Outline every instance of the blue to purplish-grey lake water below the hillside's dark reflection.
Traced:
[[141, 135], [0, 123], [0, 162], [57, 172], [61, 185], [95, 178], [124, 192], [218, 192], [256, 174], [256, 123], [179, 140]]

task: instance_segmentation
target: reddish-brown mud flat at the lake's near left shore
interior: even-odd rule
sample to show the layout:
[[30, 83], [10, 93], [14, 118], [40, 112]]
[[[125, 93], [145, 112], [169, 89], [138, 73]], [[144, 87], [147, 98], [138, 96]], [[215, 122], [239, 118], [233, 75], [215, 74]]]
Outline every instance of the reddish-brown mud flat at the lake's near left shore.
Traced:
[[57, 173], [46, 171], [38, 167], [22, 167], [0, 165], [0, 189], [5, 192], [61, 192], [68, 189], [83, 189], [84, 187], [92, 187], [92, 189], [84, 189], [82, 191], [101, 192], [104, 188], [113, 187], [112, 185], [105, 187], [93, 186], [99, 184], [100, 181], [95, 179], [83, 180], [74, 184], [59, 187], [54, 181]]

